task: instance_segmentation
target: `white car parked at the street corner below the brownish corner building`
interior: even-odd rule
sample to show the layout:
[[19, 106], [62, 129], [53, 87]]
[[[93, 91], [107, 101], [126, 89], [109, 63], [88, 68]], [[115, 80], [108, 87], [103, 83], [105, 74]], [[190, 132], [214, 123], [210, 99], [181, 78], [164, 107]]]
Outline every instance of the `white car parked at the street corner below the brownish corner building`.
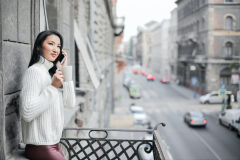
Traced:
[[[227, 91], [227, 95], [231, 95], [231, 91]], [[210, 104], [210, 103], [222, 103], [223, 98], [218, 96], [218, 91], [212, 91], [206, 95], [199, 98], [200, 103]]]

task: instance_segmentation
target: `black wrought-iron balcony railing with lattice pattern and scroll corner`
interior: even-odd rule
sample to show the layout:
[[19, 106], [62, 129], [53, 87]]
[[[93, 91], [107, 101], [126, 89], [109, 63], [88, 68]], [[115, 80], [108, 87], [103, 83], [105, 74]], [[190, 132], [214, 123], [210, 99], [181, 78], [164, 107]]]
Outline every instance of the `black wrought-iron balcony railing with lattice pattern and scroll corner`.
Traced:
[[[65, 128], [64, 130], [88, 130], [89, 138], [61, 138], [60, 143], [66, 148], [69, 160], [90, 160], [90, 159], [141, 159], [140, 147], [146, 153], [153, 154], [154, 160], [170, 159], [162, 139], [158, 133], [158, 126], [165, 126], [159, 123], [154, 129], [134, 130], [134, 129], [96, 129], [96, 128]], [[108, 132], [148, 132], [152, 133], [151, 140], [138, 139], [108, 139]], [[92, 133], [102, 132], [102, 138], [92, 137]]]

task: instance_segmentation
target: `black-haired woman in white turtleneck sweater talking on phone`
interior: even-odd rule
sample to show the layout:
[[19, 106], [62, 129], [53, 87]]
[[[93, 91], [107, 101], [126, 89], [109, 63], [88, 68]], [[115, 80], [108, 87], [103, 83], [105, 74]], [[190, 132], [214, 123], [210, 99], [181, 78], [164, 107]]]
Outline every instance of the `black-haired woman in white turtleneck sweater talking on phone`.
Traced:
[[[73, 81], [64, 82], [67, 53], [62, 36], [53, 30], [39, 33], [21, 90], [22, 136], [31, 160], [65, 160], [59, 146], [65, 108], [75, 105]], [[59, 57], [66, 56], [60, 64]], [[63, 86], [63, 90], [59, 87]]]

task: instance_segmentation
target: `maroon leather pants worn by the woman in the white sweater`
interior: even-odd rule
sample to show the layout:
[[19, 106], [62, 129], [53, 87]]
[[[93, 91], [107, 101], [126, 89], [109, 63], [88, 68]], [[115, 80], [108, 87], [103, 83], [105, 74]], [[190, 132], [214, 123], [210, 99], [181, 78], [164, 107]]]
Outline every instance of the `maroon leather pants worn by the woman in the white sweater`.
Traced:
[[30, 160], [66, 160], [59, 143], [41, 146], [27, 144], [25, 153]]

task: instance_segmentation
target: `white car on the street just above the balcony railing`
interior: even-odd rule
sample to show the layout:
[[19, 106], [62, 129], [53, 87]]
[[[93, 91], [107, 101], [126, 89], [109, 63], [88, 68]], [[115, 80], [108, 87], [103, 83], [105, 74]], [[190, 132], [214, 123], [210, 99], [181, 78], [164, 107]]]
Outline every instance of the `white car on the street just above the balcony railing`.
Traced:
[[134, 117], [134, 123], [135, 124], [147, 124], [148, 123], [148, 117], [145, 113], [144, 109], [140, 106], [131, 106], [130, 110]]

